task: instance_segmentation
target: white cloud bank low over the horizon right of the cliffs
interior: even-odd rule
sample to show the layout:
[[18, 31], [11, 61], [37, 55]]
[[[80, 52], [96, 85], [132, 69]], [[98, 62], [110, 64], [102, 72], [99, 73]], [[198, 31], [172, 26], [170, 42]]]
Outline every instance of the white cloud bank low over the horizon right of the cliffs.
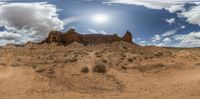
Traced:
[[200, 47], [200, 32], [176, 34], [176, 30], [170, 31], [162, 35], [154, 35], [151, 38], [151, 42], [156, 46]]

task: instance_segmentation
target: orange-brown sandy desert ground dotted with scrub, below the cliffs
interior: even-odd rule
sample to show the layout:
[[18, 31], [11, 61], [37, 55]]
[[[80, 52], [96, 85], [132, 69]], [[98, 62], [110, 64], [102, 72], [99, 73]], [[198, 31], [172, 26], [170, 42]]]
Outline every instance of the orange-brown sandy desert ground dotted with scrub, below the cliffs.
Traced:
[[[9, 45], [0, 48], [0, 99], [200, 99], [199, 60], [200, 49], [125, 42]], [[104, 72], [94, 72], [99, 64]]]

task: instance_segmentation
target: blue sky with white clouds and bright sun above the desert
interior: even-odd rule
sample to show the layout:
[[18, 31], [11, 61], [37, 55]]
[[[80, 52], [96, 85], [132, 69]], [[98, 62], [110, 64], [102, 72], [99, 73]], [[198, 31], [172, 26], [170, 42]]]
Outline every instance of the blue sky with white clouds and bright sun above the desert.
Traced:
[[129, 30], [140, 45], [200, 47], [200, 0], [0, 0], [0, 46], [72, 27], [119, 36]]

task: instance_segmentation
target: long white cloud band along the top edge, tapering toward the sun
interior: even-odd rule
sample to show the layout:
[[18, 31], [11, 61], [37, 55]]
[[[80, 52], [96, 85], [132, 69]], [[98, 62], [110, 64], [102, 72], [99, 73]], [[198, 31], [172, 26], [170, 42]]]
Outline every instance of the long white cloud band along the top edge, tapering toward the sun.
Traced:
[[[191, 24], [200, 26], [200, 1], [199, 0], [107, 0], [107, 4], [129, 4], [144, 6], [149, 9], [165, 9], [171, 13], [177, 13], [179, 17], [187, 18]], [[186, 3], [194, 4], [190, 10], [184, 8]], [[179, 12], [178, 12], [179, 11]]]

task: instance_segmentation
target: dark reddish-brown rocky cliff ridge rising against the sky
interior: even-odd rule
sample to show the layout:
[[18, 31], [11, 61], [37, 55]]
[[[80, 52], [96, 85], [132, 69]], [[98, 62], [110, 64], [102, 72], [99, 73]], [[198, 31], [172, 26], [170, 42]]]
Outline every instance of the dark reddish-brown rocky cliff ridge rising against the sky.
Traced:
[[62, 33], [60, 31], [51, 31], [49, 36], [41, 43], [57, 43], [62, 45], [68, 45], [73, 42], [82, 43], [84, 45], [101, 44], [101, 43], [112, 43], [118, 41], [132, 42], [132, 34], [127, 31], [123, 37], [114, 35], [103, 35], [103, 34], [79, 34], [75, 29], [69, 29], [67, 32]]

